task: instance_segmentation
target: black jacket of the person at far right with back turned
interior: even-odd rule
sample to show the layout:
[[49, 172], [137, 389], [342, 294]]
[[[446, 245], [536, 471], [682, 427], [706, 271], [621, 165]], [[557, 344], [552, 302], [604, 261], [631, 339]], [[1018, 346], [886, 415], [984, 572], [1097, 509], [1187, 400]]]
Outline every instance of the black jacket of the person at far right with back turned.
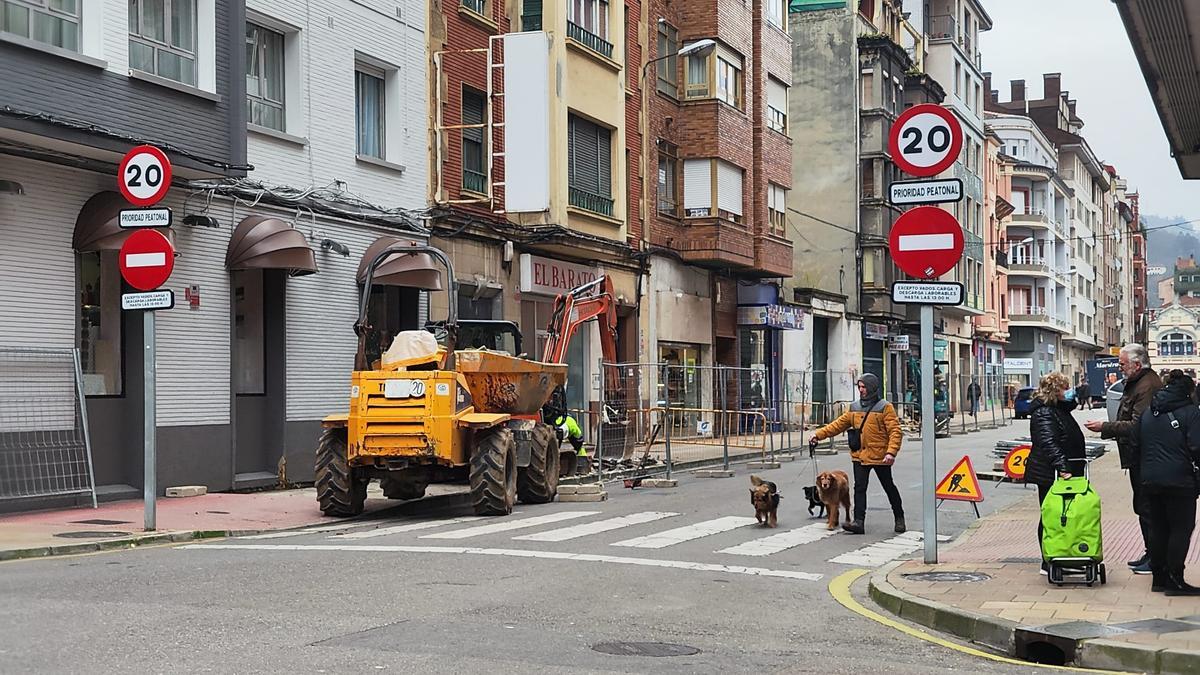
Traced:
[[[1175, 417], [1178, 429], [1171, 426]], [[1141, 482], [1154, 488], [1196, 488], [1192, 462], [1200, 460], [1200, 407], [1168, 384], [1141, 416]]]

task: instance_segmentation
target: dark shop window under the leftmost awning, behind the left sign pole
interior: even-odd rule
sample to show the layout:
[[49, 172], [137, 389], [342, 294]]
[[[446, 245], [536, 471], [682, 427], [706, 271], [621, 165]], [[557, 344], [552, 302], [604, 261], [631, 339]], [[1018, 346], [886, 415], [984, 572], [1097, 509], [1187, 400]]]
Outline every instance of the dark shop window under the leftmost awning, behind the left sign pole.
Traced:
[[116, 251], [79, 258], [79, 360], [84, 394], [114, 396], [121, 381], [121, 279]]

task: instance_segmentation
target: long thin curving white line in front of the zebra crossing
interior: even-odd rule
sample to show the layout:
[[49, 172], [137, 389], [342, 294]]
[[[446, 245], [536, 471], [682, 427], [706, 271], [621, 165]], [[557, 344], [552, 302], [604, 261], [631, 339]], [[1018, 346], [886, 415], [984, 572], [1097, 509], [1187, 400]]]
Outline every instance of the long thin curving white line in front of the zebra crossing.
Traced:
[[[583, 512], [577, 512], [583, 513]], [[751, 519], [754, 520], [754, 519]], [[646, 557], [625, 557], [614, 555], [571, 554], [564, 551], [532, 551], [522, 549], [482, 549], [474, 546], [380, 546], [360, 545], [305, 545], [305, 544], [185, 544], [176, 550], [202, 551], [352, 551], [352, 552], [406, 552], [406, 554], [458, 554], [486, 555], [541, 560], [570, 560], [581, 562], [607, 562], [612, 565], [632, 565], [641, 567], [660, 567], [672, 569], [690, 569], [704, 573], [749, 574], [751, 577], [775, 577], [798, 581], [820, 581], [821, 574], [798, 572], [794, 569], [766, 569], [762, 567], [743, 567], [739, 565], [715, 565], [709, 562], [688, 562], [683, 560], [653, 560]]]

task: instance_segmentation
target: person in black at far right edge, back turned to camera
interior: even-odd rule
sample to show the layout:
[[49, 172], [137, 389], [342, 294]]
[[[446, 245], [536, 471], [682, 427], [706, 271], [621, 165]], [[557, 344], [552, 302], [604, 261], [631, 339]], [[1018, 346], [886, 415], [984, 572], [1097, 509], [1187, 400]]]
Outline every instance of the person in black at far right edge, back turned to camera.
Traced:
[[1168, 596], [1200, 596], [1183, 579], [1183, 563], [1192, 545], [1200, 494], [1200, 408], [1195, 382], [1181, 370], [1166, 374], [1141, 416], [1141, 480], [1150, 519], [1151, 591]]

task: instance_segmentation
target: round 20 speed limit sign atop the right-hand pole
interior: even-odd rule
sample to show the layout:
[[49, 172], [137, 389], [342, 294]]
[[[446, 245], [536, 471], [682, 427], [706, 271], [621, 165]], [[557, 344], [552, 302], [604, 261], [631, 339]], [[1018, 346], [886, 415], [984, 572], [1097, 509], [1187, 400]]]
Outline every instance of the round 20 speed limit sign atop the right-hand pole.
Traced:
[[962, 125], [947, 108], [922, 103], [896, 118], [888, 141], [892, 159], [906, 173], [937, 175], [959, 159]]

